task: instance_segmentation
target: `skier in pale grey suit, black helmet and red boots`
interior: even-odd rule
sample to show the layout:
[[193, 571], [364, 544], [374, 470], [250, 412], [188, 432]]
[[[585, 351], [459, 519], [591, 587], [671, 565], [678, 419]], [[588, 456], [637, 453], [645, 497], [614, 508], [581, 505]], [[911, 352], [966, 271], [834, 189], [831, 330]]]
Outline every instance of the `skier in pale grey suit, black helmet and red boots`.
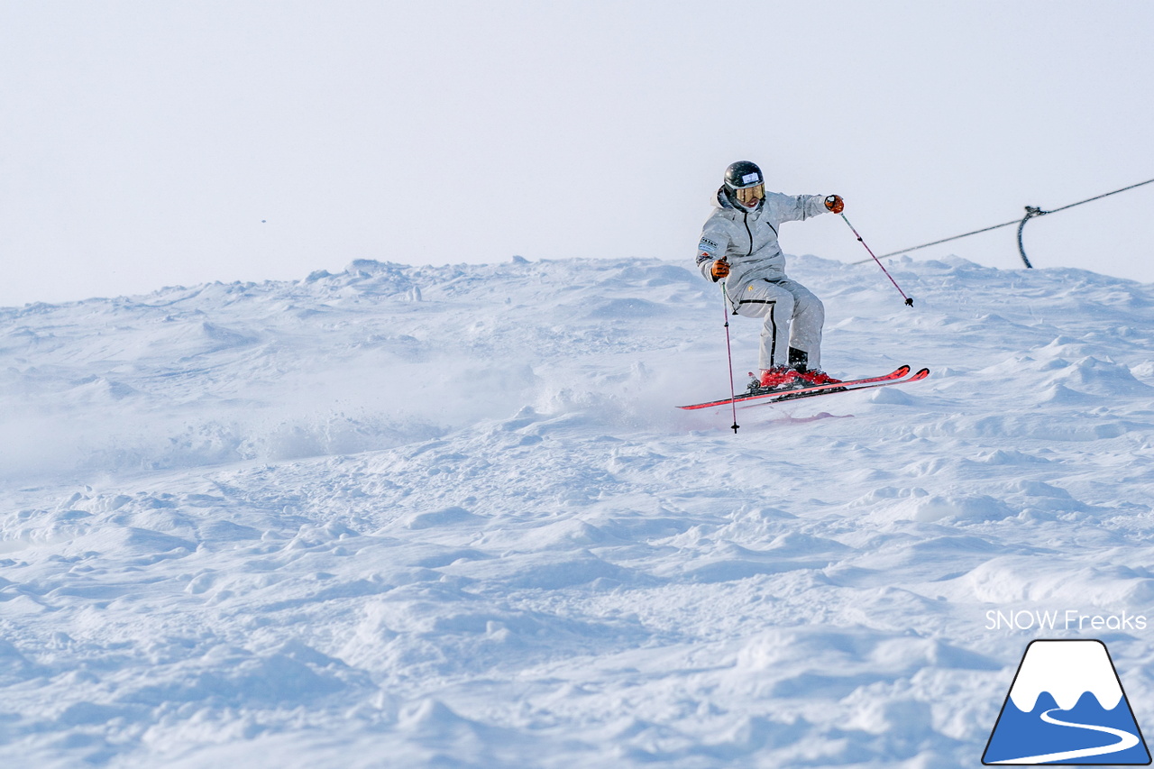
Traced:
[[756, 163], [739, 160], [725, 170], [717, 209], [702, 227], [697, 267], [710, 281], [725, 281], [735, 315], [764, 318], [756, 384], [790, 389], [838, 382], [822, 371], [825, 307], [805, 286], [786, 277], [778, 245], [782, 222], [840, 214], [839, 195], [782, 195], [765, 192]]

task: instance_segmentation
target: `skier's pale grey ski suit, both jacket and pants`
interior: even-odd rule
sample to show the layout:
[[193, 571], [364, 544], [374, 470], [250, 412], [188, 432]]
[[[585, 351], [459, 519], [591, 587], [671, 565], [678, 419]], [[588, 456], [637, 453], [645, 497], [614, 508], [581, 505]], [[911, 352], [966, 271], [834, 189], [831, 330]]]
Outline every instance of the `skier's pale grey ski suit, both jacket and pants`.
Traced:
[[712, 282], [713, 262], [725, 259], [729, 275], [722, 282], [730, 311], [765, 319], [758, 366], [801, 363], [820, 368], [825, 307], [809, 289], [786, 277], [778, 231], [782, 222], [827, 214], [824, 196], [766, 192], [757, 208], [744, 210], [729, 202], [722, 187], [713, 204], [717, 209], [697, 245], [697, 267]]

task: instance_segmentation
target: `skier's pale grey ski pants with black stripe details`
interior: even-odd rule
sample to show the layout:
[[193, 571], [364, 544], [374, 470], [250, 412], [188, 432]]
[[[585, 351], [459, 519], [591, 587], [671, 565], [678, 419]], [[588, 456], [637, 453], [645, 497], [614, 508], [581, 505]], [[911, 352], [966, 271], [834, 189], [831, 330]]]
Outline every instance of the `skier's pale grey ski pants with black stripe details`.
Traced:
[[734, 314], [764, 318], [758, 367], [801, 364], [822, 367], [822, 326], [825, 306], [801, 283], [781, 278], [754, 281], [739, 297], [729, 297]]

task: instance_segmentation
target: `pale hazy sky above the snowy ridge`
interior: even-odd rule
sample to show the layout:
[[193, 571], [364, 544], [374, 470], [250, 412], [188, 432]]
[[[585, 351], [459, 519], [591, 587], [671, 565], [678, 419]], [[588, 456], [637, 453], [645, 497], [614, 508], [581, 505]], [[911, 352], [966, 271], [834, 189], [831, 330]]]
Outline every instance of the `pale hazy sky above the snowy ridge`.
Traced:
[[[692, 264], [730, 162], [877, 254], [1154, 178], [1154, 3], [0, 0], [0, 305], [406, 264]], [[1033, 221], [1154, 282], [1154, 185]], [[1016, 227], [912, 254], [1021, 267]], [[869, 259], [845, 222], [787, 253]]]

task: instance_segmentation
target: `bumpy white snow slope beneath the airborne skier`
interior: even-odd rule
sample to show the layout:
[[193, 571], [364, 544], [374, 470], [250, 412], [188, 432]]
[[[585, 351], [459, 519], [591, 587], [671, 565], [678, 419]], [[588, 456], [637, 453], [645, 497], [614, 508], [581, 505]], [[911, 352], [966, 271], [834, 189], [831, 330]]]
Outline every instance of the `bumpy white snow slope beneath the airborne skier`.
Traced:
[[0, 766], [975, 767], [1036, 637], [1154, 730], [1154, 285], [890, 267], [790, 274], [932, 375], [736, 435], [688, 263], [0, 309]]

